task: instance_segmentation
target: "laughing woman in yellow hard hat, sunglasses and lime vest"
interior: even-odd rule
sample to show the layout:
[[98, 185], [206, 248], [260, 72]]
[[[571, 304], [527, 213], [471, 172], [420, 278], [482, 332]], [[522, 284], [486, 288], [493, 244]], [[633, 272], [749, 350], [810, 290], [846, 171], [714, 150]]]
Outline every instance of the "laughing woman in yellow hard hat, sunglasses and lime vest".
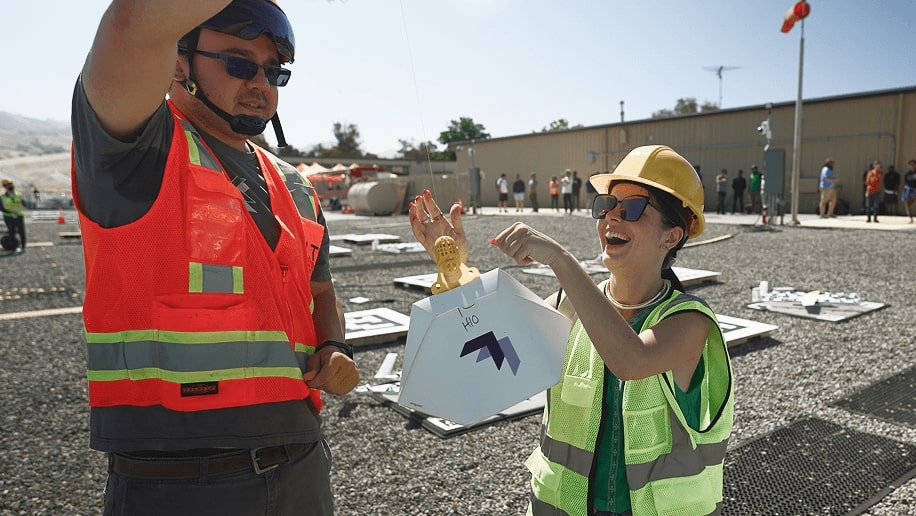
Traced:
[[[575, 256], [525, 224], [491, 241], [518, 264], [549, 266], [560, 291], [548, 301], [573, 321], [540, 446], [525, 463], [528, 513], [721, 511], [731, 365], [714, 312], [684, 294], [670, 269], [687, 239], [703, 232], [703, 186], [661, 145], [634, 149], [613, 173], [590, 181], [607, 280], [595, 285]], [[430, 256], [435, 238], [448, 234], [466, 261], [455, 206], [449, 215], [429, 192], [409, 209]]]

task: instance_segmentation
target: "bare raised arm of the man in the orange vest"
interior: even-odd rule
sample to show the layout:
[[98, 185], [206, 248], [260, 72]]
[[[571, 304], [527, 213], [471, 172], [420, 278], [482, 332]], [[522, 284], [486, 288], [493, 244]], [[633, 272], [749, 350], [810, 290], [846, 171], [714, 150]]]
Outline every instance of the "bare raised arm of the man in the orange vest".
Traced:
[[162, 103], [178, 40], [229, 0], [114, 0], [83, 66], [89, 104], [112, 136], [129, 139]]

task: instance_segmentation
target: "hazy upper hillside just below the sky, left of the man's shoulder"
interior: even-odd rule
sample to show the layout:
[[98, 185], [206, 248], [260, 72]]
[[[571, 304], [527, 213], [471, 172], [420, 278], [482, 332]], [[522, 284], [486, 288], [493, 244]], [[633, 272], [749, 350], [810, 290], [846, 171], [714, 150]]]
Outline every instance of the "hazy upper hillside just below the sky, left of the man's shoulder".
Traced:
[[0, 111], [0, 159], [70, 150], [70, 124]]

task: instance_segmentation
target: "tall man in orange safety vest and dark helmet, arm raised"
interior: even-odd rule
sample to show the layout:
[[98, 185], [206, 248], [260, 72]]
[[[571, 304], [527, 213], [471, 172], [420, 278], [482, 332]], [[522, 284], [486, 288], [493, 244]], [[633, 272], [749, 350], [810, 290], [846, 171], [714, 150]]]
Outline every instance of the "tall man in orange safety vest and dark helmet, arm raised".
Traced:
[[[322, 392], [359, 382], [314, 188], [249, 139], [295, 38], [269, 0], [113, 1], [73, 94], [89, 445], [105, 514], [333, 514]], [[168, 99], [166, 99], [166, 95]]]

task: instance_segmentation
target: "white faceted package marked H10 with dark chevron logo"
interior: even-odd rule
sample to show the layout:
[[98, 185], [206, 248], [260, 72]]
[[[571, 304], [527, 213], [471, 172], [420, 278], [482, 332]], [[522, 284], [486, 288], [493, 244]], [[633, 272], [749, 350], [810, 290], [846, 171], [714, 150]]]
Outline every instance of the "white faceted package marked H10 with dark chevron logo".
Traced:
[[571, 322], [494, 269], [410, 309], [398, 403], [470, 425], [560, 380]]

